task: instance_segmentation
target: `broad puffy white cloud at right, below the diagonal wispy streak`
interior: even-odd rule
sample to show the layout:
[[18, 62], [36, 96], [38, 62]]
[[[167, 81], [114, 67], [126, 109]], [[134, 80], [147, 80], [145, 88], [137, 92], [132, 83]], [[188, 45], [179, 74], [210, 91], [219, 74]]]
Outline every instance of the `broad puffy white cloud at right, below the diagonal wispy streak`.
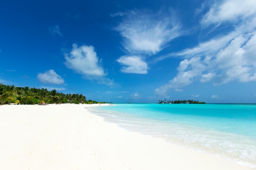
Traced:
[[214, 54], [209, 51], [198, 53], [182, 52], [186, 57], [191, 55], [190, 60], [180, 62], [177, 75], [168, 84], [155, 90], [157, 94], [165, 94], [169, 88], [182, 88], [195, 79], [200, 82], [212, 81], [214, 85], [226, 84], [231, 81], [250, 82], [256, 81], [256, 33], [252, 37], [240, 35], [231, 42], [225, 44]]

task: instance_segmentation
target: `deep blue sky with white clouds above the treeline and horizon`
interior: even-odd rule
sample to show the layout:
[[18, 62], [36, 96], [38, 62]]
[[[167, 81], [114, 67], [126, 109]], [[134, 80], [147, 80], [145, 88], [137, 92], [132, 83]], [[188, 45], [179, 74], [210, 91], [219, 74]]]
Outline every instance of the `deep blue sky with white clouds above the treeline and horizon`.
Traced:
[[116, 103], [256, 103], [255, 0], [0, 4], [0, 83]]

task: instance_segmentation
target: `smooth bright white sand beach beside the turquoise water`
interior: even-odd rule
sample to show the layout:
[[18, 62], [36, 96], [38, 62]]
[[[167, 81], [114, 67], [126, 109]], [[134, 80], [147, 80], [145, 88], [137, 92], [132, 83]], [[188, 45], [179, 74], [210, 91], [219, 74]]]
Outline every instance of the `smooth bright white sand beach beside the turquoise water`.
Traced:
[[0, 106], [0, 169], [255, 170], [128, 132], [89, 106]]

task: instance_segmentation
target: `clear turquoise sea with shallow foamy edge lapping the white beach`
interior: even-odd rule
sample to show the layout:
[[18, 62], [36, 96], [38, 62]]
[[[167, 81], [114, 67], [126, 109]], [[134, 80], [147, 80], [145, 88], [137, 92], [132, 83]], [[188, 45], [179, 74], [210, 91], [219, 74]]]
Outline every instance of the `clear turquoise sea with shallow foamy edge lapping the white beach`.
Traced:
[[256, 104], [115, 104], [88, 109], [129, 131], [256, 168]]

